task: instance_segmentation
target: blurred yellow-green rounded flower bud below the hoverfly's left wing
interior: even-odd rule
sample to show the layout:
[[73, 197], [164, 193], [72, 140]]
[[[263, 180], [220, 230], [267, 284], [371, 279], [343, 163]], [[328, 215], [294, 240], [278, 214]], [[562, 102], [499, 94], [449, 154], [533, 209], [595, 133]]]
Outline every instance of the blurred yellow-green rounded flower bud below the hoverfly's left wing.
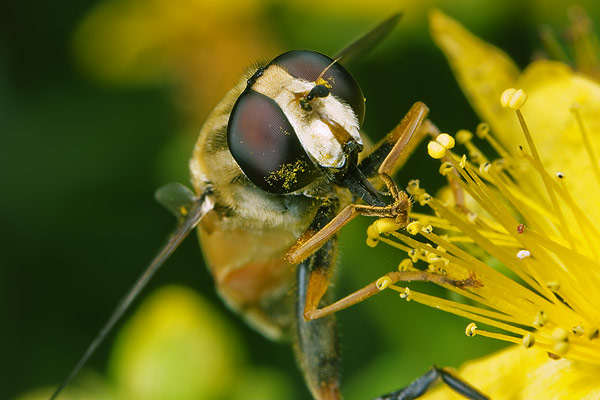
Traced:
[[121, 399], [225, 398], [244, 352], [218, 311], [193, 291], [164, 287], [121, 329], [110, 375]]

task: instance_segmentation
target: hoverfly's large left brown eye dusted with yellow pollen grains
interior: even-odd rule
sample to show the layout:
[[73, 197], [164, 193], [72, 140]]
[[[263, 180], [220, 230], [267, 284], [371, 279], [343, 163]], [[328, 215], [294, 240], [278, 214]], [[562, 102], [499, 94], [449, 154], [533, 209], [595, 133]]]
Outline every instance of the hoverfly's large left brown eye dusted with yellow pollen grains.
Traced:
[[244, 174], [266, 192], [290, 193], [320, 175], [279, 105], [252, 90], [233, 106], [227, 142]]

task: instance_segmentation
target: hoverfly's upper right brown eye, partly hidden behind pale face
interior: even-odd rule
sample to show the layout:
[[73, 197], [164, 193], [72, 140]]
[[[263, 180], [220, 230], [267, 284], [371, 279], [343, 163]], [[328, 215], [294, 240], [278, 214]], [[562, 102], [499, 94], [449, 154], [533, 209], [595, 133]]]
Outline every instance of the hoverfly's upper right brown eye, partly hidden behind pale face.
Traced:
[[[365, 119], [365, 97], [356, 79], [339, 63], [324, 54], [311, 50], [293, 50], [280, 55], [271, 64], [285, 68], [290, 75], [309, 82], [316, 81], [321, 73], [331, 85], [331, 94], [347, 103], [358, 117], [362, 126]], [[330, 66], [331, 65], [331, 66]]]

